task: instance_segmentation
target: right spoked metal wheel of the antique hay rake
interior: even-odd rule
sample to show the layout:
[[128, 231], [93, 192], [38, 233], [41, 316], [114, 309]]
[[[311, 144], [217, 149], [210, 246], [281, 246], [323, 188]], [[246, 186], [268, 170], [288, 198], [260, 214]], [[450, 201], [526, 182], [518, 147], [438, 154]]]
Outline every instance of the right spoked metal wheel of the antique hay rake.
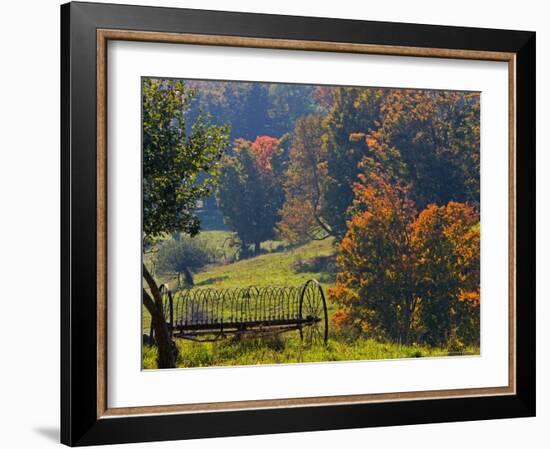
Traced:
[[300, 297], [300, 318], [305, 323], [300, 327], [300, 338], [308, 346], [328, 341], [328, 313], [325, 294], [314, 279], [304, 285]]

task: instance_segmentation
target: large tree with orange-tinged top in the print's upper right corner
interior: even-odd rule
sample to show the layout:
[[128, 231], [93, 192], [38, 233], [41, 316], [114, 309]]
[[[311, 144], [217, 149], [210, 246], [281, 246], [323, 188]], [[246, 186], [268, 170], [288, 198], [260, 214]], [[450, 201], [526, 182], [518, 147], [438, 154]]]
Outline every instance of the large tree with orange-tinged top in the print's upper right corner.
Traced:
[[479, 94], [393, 89], [380, 112], [380, 126], [364, 131], [371, 170], [409, 185], [419, 209], [479, 205]]

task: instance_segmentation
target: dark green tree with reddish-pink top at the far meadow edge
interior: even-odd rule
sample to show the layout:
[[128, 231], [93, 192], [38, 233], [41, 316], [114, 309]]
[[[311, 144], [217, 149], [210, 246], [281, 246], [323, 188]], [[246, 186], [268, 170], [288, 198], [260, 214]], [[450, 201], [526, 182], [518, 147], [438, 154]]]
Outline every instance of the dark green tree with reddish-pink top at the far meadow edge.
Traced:
[[260, 136], [254, 142], [238, 139], [222, 161], [218, 199], [220, 209], [241, 241], [243, 255], [248, 245], [258, 254], [260, 244], [274, 237], [279, 209], [284, 201], [280, 141]]

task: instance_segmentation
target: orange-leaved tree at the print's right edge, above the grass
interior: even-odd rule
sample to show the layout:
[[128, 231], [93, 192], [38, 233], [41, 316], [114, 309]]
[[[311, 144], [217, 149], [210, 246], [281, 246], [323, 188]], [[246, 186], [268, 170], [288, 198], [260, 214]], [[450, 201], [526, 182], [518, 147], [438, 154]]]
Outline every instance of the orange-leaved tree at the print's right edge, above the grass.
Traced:
[[423, 340], [479, 344], [479, 215], [464, 203], [431, 204], [412, 231]]

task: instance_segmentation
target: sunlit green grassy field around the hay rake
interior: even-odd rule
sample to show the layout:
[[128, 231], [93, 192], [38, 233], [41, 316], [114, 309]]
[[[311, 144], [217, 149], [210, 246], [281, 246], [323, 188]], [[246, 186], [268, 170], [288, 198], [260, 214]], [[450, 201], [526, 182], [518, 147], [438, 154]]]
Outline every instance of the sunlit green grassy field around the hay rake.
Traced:
[[[201, 236], [208, 240], [209, 245], [221, 248], [225, 260], [234, 259], [235, 249], [228, 244], [230, 232], [207, 231], [201, 233]], [[195, 274], [196, 287], [298, 286], [313, 278], [321, 283], [326, 293], [334, 285], [335, 277], [332, 272], [323, 271], [318, 265], [311, 263], [334, 255], [335, 249], [330, 239], [310, 242], [296, 248], [283, 248], [281, 242], [268, 241], [262, 243], [262, 250], [264, 253], [257, 257], [206, 267]], [[161, 277], [161, 281], [175, 286], [173, 277]], [[404, 346], [364, 338], [349, 341], [330, 328], [330, 318], [335, 312], [335, 306], [330, 302], [327, 305], [329, 342], [326, 346], [306, 347], [296, 331], [263, 339], [225, 340], [216, 343], [178, 340], [177, 365], [202, 367], [457, 355], [444, 348]], [[144, 333], [149, 333], [150, 316], [143, 310], [143, 330]], [[479, 354], [479, 348], [466, 348], [461, 354]], [[155, 359], [156, 348], [144, 347], [143, 367], [156, 368]]]

